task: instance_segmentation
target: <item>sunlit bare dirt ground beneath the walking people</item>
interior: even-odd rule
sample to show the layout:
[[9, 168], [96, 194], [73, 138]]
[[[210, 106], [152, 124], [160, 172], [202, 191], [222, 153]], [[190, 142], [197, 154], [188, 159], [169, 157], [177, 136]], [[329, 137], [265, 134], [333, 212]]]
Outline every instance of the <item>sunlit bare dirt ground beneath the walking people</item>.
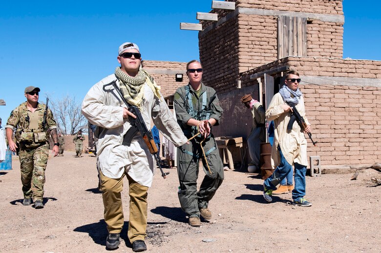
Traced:
[[[45, 207], [22, 206], [20, 162], [0, 172], [0, 252], [106, 252], [102, 195], [97, 190], [96, 157], [74, 153], [49, 158]], [[312, 207], [287, 205], [291, 194], [262, 197], [263, 181], [226, 171], [210, 202], [213, 217], [199, 228], [188, 225], [177, 198], [174, 169], [156, 171], [148, 192], [148, 252], [153, 253], [327, 253], [381, 252], [381, 186], [372, 187], [373, 169], [352, 174], [307, 176]], [[203, 172], [200, 172], [200, 179]], [[128, 192], [123, 192], [125, 226], [115, 252], [132, 252], [127, 239]], [[207, 241], [207, 242], [204, 242]], [[208, 242], [209, 241], [209, 242]]]

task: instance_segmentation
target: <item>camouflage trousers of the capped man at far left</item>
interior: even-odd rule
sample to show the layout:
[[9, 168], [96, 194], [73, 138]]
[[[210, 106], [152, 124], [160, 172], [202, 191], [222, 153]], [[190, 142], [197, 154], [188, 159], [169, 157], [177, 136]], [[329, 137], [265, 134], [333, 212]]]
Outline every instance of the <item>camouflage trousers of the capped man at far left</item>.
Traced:
[[19, 158], [24, 198], [32, 197], [34, 202], [42, 201], [48, 156], [49, 149], [46, 145], [34, 149], [20, 147]]

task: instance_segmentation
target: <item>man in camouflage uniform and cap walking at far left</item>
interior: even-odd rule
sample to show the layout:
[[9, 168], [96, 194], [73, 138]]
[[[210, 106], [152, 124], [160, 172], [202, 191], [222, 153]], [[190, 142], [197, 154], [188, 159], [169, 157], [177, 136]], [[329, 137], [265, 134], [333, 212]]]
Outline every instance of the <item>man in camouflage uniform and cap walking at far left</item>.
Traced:
[[[43, 208], [43, 185], [45, 169], [49, 155], [48, 136], [54, 141], [53, 154], [58, 155], [57, 126], [52, 111], [39, 103], [40, 88], [28, 86], [25, 88], [26, 102], [14, 109], [5, 126], [6, 136], [11, 151], [18, 151], [21, 164], [21, 182], [24, 199], [27, 206], [33, 199], [36, 209]], [[46, 116], [44, 120], [44, 115]], [[13, 131], [16, 130], [16, 143], [13, 141]]]

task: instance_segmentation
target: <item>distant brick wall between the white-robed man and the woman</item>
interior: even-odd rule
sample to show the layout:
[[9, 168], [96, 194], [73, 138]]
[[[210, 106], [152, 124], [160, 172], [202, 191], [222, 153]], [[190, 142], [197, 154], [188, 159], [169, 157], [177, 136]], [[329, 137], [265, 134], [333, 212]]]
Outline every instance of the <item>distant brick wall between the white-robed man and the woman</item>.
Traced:
[[[187, 62], [143, 60], [142, 67], [161, 86], [163, 97], [174, 94], [178, 87], [184, 86], [189, 82], [189, 78], [185, 74]], [[176, 81], [176, 74], [183, 74], [182, 82]]]

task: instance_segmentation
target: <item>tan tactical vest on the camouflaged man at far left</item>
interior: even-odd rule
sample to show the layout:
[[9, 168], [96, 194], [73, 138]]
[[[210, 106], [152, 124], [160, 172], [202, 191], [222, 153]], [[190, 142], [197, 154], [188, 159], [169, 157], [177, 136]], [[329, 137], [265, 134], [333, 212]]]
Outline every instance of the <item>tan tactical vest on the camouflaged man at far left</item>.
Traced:
[[29, 129], [30, 125], [30, 118], [28, 115], [28, 112], [25, 108], [21, 109], [20, 117], [19, 117], [19, 123], [18, 128], [16, 129], [15, 137], [17, 142], [21, 142], [24, 144], [33, 144], [36, 143], [38, 145], [41, 144], [41, 142], [47, 141], [47, 128], [43, 129], [42, 127], [42, 120], [43, 120], [43, 114], [45, 112], [45, 109], [39, 110], [39, 123], [38, 123], [38, 129]]

